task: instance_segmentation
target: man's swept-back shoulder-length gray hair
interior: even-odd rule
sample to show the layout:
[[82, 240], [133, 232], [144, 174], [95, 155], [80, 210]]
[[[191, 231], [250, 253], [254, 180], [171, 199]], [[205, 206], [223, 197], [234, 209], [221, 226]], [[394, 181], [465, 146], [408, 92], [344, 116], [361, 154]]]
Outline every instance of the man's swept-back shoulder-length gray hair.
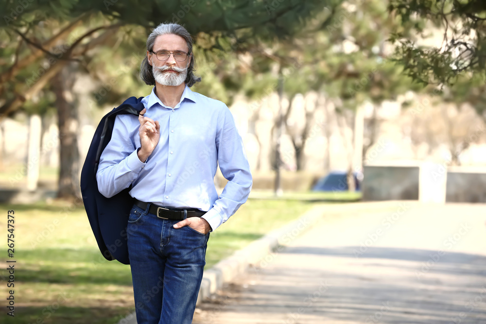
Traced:
[[[147, 51], [152, 51], [157, 36], [165, 34], [174, 34], [184, 38], [187, 47], [189, 48], [189, 54], [192, 53], [191, 34], [189, 34], [189, 32], [184, 27], [175, 23], [162, 23], [158, 25], [147, 38]], [[189, 67], [187, 68], [187, 76], [186, 80], [184, 81], [188, 86], [192, 86], [196, 82], [201, 82], [201, 77], [196, 77], [193, 73], [195, 64], [196, 59], [194, 58], [194, 53], [192, 53], [191, 64], [189, 64]], [[142, 79], [142, 81], [145, 82], [147, 85], [155, 85], [155, 78], [152, 72], [152, 66], [149, 64], [148, 61], [148, 56], [145, 56], [142, 64], [140, 65], [140, 79]]]

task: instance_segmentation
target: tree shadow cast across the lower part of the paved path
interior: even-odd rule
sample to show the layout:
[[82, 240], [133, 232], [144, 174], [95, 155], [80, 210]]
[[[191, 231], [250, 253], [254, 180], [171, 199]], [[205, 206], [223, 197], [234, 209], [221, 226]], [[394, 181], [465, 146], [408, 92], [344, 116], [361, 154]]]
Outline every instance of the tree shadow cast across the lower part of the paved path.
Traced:
[[[486, 256], [389, 247], [359, 251], [287, 247], [275, 267], [250, 270], [245, 282], [257, 283], [239, 287], [219, 312], [263, 314], [258, 323], [486, 324]], [[214, 305], [201, 308], [214, 312]], [[244, 323], [228, 316], [226, 321]]]

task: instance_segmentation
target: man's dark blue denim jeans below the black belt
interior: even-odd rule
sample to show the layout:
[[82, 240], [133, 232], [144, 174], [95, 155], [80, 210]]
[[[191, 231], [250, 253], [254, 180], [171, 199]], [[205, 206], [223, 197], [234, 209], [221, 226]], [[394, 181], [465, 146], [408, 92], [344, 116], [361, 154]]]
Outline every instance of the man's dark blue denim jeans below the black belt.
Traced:
[[164, 220], [134, 205], [128, 253], [138, 324], [190, 324], [206, 264], [209, 233]]

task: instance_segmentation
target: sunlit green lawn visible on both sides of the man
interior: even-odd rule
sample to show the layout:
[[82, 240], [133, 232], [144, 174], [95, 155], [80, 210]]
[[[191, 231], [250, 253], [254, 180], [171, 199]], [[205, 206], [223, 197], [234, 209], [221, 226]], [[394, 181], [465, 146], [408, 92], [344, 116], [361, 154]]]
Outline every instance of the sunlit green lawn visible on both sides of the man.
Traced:
[[[207, 268], [311, 206], [304, 201], [249, 200], [211, 233]], [[15, 210], [16, 316], [3, 314], [2, 323], [5, 319], [16, 324], [115, 324], [133, 311], [130, 267], [103, 258], [83, 206], [0, 204], [5, 236], [11, 209]], [[3, 265], [5, 255], [0, 257]]]

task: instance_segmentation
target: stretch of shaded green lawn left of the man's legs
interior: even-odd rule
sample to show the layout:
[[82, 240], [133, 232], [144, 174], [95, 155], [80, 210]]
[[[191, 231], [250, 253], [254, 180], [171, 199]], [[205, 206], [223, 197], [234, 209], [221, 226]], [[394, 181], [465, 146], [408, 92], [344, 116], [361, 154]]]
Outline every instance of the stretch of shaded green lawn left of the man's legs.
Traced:
[[6, 211], [15, 210], [16, 316], [7, 319], [108, 324], [129, 313], [130, 268], [100, 257], [82, 206], [0, 206], [3, 232]]

